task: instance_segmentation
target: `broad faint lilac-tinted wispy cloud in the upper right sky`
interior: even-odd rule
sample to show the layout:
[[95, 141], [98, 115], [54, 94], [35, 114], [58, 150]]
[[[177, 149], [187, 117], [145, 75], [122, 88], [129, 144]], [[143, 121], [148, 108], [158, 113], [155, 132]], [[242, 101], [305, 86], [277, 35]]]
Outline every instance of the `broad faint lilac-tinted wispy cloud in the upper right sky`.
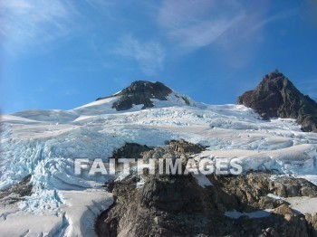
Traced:
[[248, 4], [238, 0], [164, 0], [157, 21], [179, 55], [209, 47], [217, 59], [243, 68], [264, 43], [268, 24], [298, 14], [298, 9], [289, 8], [273, 14], [270, 5], [266, 0]]

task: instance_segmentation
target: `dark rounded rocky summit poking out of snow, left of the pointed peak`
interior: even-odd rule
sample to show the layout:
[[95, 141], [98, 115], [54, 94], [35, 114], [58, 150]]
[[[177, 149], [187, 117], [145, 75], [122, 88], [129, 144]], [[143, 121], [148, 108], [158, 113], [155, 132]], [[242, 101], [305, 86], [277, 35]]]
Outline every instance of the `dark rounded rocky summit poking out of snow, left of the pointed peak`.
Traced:
[[[172, 93], [173, 90], [159, 81], [134, 81], [128, 88], [106, 98], [120, 97], [119, 100], [112, 104], [112, 109], [120, 111], [131, 109], [133, 105], [141, 104], [143, 104], [142, 109], [154, 107], [153, 100], [168, 100], [168, 96]], [[187, 105], [190, 104], [190, 101], [185, 96], [178, 95], [177, 97], [180, 100], [184, 100]], [[106, 98], [98, 98], [97, 100]]]

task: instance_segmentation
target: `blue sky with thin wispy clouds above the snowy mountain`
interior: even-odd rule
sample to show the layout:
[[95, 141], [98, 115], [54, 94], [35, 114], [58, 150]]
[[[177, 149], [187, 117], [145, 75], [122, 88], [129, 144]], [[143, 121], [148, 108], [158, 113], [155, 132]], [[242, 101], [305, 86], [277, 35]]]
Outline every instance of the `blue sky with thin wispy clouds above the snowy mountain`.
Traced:
[[3, 113], [73, 109], [132, 81], [235, 103], [276, 68], [317, 100], [316, 0], [0, 0]]

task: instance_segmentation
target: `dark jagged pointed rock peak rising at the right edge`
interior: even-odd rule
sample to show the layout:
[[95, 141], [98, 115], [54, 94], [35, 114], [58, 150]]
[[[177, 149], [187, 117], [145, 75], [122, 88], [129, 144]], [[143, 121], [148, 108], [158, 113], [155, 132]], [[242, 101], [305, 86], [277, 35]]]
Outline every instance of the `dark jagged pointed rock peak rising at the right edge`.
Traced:
[[238, 104], [255, 109], [264, 119], [297, 119], [303, 131], [317, 132], [317, 103], [277, 70], [265, 75], [255, 90], [240, 96]]

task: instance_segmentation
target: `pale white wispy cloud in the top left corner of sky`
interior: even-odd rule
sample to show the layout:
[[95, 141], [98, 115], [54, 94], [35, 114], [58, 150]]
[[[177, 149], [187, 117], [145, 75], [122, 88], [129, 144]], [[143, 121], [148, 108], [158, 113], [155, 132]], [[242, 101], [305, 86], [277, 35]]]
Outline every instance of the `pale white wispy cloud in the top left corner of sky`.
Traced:
[[43, 46], [71, 32], [76, 13], [62, 0], [10, 0], [0, 2], [0, 39], [10, 52]]

